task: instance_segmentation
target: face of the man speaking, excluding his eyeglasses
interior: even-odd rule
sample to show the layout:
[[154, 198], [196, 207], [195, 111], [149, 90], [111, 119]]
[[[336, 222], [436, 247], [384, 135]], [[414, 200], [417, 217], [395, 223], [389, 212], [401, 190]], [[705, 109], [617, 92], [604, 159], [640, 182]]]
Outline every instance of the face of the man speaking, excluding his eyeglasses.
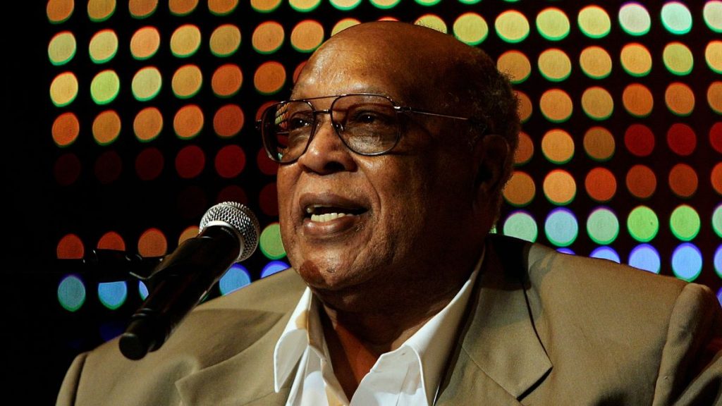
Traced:
[[[405, 98], [417, 93], [409, 84], [425, 83], [409, 77], [418, 75], [413, 70], [399, 69], [393, 54], [355, 51], [357, 44], [344, 41], [333, 45], [309, 61], [293, 98], [376, 92], [412, 107], [428, 101]], [[437, 97], [434, 92], [427, 90], [430, 100]], [[312, 103], [323, 110], [333, 100]], [[400, 118], [399, 144], [386, 155], [362, 156], [344, 146], [329, 115], [321, 114], [308, 150], [278, 170], [284, 247], [316, 293], [342, 292], [350, 298], [389, 289], [399, 294], [399, 288], [412, 289], [416, 281], [427, 284], [455, 263], [457, 251], [468, 251], [465, 230], [474, 200], [468, 145], [459, 142], [463, 137], [448, 119]]]

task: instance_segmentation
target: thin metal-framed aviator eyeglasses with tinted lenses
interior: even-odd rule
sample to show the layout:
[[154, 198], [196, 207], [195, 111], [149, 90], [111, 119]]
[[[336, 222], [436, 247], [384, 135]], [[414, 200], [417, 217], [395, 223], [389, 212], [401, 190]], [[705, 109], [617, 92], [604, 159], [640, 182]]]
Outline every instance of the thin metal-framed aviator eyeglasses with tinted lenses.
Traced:
[[[311, 100], [334, 98], [326, 110], [316, 110]], [[329, 114], [336, 135], [349, 150], [360, 155], [382, 155], [396, 147], [401, 139], [400, 113], [425, 114], [470, 121], [486, 128], [470, 117], [422, 111], [397, 105], [385, 95], [353, 93], [287, 100], [270, 105], [261, 114], [256, 128], [261, 131], [266, 153], [277, 163], [295, 162], [308, 149], [316, 134], [318, 115]]]

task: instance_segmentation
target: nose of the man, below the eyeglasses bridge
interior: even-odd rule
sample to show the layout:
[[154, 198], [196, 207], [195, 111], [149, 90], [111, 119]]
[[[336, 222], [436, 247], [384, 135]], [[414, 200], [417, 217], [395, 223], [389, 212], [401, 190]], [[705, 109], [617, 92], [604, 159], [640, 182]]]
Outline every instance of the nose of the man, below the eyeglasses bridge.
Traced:
[[352, 152], [344, 145], [327, 112], [316, 116], [316, 128], [306, 151], [298, 158], [305, 170], [323, 175], [355, 168]]

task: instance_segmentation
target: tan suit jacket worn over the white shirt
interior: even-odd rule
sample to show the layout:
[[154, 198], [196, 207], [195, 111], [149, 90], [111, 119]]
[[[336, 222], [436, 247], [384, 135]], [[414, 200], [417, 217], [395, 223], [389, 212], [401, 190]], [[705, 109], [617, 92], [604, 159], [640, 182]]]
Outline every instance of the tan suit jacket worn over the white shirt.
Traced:
[[[82, 353], [57, 405], [284, 405], [273, 350], [304, 288], [290, 269], [203, 303], [142, 360]], [[490, 236], [467, 312], [438, 405], [722, 405], [703, 285]]]

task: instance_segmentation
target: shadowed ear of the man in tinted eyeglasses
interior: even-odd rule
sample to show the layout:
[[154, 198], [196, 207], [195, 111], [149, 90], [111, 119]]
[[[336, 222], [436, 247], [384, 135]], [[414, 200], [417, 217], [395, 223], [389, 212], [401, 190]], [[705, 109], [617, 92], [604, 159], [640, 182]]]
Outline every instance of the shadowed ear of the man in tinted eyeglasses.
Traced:
[[477, 174], [474, 189], [477, 192], [477, 206], [496, 207], [503, 183], [508, 176], [507, 166], [509, 144], [504, 137], [488, 134], [474, 146], [474, 162]]

